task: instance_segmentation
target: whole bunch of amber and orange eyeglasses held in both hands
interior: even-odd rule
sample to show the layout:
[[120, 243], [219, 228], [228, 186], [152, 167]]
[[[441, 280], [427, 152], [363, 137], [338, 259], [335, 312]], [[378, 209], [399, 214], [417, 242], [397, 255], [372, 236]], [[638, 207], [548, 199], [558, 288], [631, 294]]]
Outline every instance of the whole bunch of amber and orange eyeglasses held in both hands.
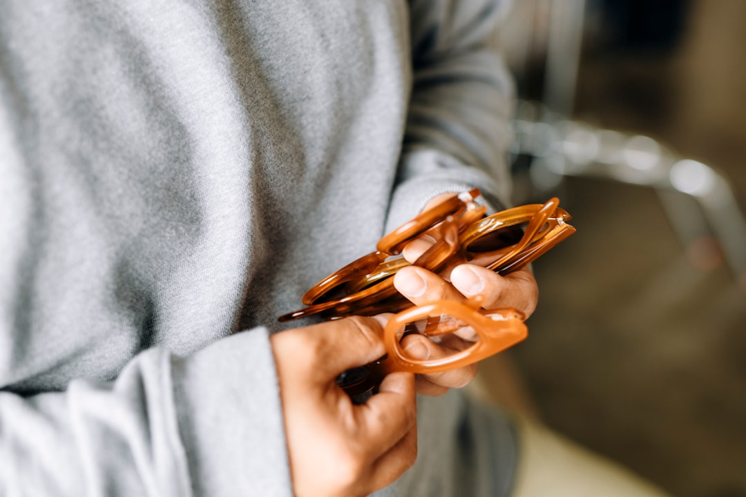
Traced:
[[[560, 201], [529, 204], [486, 215], [477, 203], [480, 191], [448, 198], [402, 224], [378, 241], [376, 250], [360, 257], [314, 285], [302, 297], [305, 308], [280, 316], [287, 321], [319, 314], [327, 319], [351, 315], [372, 316], [396, 312], [383, 331], [386, 355], [365, 368], [340, 379], [353, 398], [366, 396], [387, 373], [439, 373], [480, 361], [517, 344], [527, 336], [524, 315], [513, 308], [483, 309], [478, 299], [437, 300], [420, 306], [394, 288], [394, 274], [415, 265], [445, 279], [451, 269], [468, 262], [507, 274], [523, 268], [572, 233], [571, 216]], [[401, 255], [414, 238], [425, 236], [432, 246], [415, 262]], [[421, 333], [435, 341], [448, 340], [459, 332], [469, 336], [466, 348], [439, 358], [421, 360], [407, 355], [400, 341], [409, 333]]]

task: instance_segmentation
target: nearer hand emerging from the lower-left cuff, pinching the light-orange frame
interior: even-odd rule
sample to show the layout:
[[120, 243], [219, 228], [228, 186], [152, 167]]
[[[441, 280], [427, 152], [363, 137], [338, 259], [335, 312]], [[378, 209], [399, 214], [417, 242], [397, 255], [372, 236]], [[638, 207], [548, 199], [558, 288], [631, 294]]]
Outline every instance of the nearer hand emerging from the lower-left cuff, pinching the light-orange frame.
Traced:
[[417, 456], [414, 377], [392, 373], [354, 405], [336, 384], [384, 353], [385, 317], [348, 317], [272, 335], [295, 495], [365, 496]]

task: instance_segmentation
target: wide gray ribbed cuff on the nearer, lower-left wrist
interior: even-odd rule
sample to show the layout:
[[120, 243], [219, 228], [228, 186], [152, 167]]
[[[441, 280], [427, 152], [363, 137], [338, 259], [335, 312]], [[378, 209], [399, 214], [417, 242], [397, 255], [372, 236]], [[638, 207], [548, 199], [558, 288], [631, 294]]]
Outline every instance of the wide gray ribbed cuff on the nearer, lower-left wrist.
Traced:
[[269, 332], [238, 333], [173, 368], [195, 496], [292, 496]]

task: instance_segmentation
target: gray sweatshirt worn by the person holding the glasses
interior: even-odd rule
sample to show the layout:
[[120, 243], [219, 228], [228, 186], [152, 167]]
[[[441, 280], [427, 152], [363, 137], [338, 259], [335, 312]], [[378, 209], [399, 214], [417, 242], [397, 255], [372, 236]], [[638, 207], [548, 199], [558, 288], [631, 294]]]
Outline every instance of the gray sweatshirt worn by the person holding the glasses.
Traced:
[[[503, 3], [3, 0], [0, 496], [291, 494], [269, 334], [434, 195], [507, 197]], [[457, 495], [489, 415], [420, 404], [383, 493]]]

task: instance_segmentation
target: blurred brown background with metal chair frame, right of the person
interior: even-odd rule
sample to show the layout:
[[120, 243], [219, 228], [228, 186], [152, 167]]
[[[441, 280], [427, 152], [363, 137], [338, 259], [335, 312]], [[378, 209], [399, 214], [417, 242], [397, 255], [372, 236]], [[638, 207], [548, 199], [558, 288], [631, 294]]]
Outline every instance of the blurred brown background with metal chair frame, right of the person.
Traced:
[[674, 496], [746, 496], [746, 1], [522, 0], [506, 27], [515, 203], [560, 197], [577, 233], [480, 379]]

